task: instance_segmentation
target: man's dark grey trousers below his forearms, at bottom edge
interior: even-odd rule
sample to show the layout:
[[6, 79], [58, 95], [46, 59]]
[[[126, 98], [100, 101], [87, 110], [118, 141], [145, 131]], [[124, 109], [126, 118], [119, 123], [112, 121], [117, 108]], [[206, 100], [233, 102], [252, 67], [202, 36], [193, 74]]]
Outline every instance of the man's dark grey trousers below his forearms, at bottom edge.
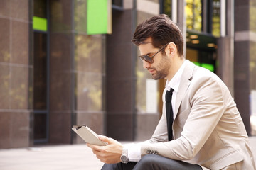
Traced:
[[104, 164], [102, 170], [202, 170], [201, 166], [187, 162], [176, 161], [157, 154], [147, 154], [139, 162], [128, 164]]

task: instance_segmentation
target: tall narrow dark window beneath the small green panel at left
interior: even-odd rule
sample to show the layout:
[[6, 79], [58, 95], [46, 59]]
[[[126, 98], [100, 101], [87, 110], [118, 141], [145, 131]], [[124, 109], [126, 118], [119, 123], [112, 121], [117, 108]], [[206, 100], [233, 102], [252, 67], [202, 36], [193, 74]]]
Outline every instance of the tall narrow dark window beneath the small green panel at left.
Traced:
[[47, 34], [33, 33], [34, 142], [47, 141]]

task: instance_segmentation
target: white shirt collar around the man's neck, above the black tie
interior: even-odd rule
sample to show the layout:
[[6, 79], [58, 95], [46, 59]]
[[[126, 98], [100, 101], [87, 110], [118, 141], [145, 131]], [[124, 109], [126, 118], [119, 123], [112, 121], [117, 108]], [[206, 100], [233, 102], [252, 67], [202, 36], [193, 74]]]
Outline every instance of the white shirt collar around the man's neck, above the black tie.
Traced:
[[[185, 60], [186, 62], [186, 60]], [[174, 91], [178, 92], [178, 86], [181, 83], [181, 75], [183, 73], [185, 62], [181, 65], [181, 68], [178, 69], [178, 72], [174, 75], [174, 77], [170, 81], [166, 81], [166, 89], [170, 91], [170, 89], [174, 89]]]

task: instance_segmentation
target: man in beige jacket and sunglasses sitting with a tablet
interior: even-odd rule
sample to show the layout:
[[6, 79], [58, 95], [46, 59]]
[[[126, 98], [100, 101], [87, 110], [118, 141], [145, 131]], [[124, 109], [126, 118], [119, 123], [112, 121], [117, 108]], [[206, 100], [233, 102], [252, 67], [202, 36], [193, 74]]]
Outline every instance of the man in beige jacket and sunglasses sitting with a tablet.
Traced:
[[[137, 26], [132, 40], [153, 79], [166, 79], [163, 114], [150, 140], [87, 144], [102, 169], [255, 169], [245, 126], [227, 86], [183, 57], [183, 35], [166, 15]], [[121, 158], [120, 158], [121, 157]]]

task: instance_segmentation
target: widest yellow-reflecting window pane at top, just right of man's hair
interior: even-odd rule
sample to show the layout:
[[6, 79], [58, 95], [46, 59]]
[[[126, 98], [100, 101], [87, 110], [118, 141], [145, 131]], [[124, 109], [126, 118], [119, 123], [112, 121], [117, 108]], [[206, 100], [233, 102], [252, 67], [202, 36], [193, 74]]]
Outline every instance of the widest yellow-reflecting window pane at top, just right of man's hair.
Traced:
[[201, 0], [186, 0], [186, 26], [189, 30], [202, 31]]

